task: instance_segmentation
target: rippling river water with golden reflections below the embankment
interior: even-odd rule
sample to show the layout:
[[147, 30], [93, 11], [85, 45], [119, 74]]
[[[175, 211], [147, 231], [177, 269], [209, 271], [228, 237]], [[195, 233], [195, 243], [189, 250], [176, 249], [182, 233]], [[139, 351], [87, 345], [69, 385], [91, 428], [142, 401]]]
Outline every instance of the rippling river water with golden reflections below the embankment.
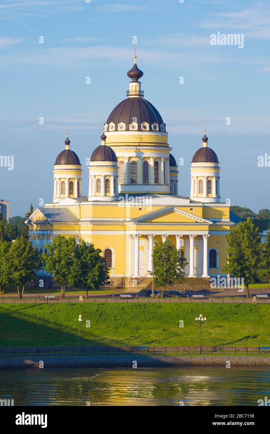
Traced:
[[258, 405], [270, 368], [175, 367], [0, 371], [14, 405]]

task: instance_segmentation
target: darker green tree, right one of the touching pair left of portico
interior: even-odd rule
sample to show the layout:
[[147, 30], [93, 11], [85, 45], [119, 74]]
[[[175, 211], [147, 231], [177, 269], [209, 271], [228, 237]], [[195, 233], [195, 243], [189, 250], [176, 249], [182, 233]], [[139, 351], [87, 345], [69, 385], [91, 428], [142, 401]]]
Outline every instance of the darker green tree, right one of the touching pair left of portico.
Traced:
[[93, 244], [87, 245], [84, 240], [77, 247], [75, 281], [78, 286], [85, 288], [88, 297], [89, 289], [100, 289], [100, 286], [109, 278], [109, 270], [105, 266], [103, 256], [100, 256], [102, 250], [95, 249]]

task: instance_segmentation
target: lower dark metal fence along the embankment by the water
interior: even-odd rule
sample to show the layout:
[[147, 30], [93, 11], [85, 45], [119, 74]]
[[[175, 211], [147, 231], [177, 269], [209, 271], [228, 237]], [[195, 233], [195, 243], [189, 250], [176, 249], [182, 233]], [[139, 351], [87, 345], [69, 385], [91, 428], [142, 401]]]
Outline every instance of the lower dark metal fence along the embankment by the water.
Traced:
[[72, 355], [270, 355], [270, 347], [225, 347], [225, 346], [121, 346], [121, 347], [24, 347], [1, 348], [0, 357], [42, 357], [42, 356], [72, 356]]

